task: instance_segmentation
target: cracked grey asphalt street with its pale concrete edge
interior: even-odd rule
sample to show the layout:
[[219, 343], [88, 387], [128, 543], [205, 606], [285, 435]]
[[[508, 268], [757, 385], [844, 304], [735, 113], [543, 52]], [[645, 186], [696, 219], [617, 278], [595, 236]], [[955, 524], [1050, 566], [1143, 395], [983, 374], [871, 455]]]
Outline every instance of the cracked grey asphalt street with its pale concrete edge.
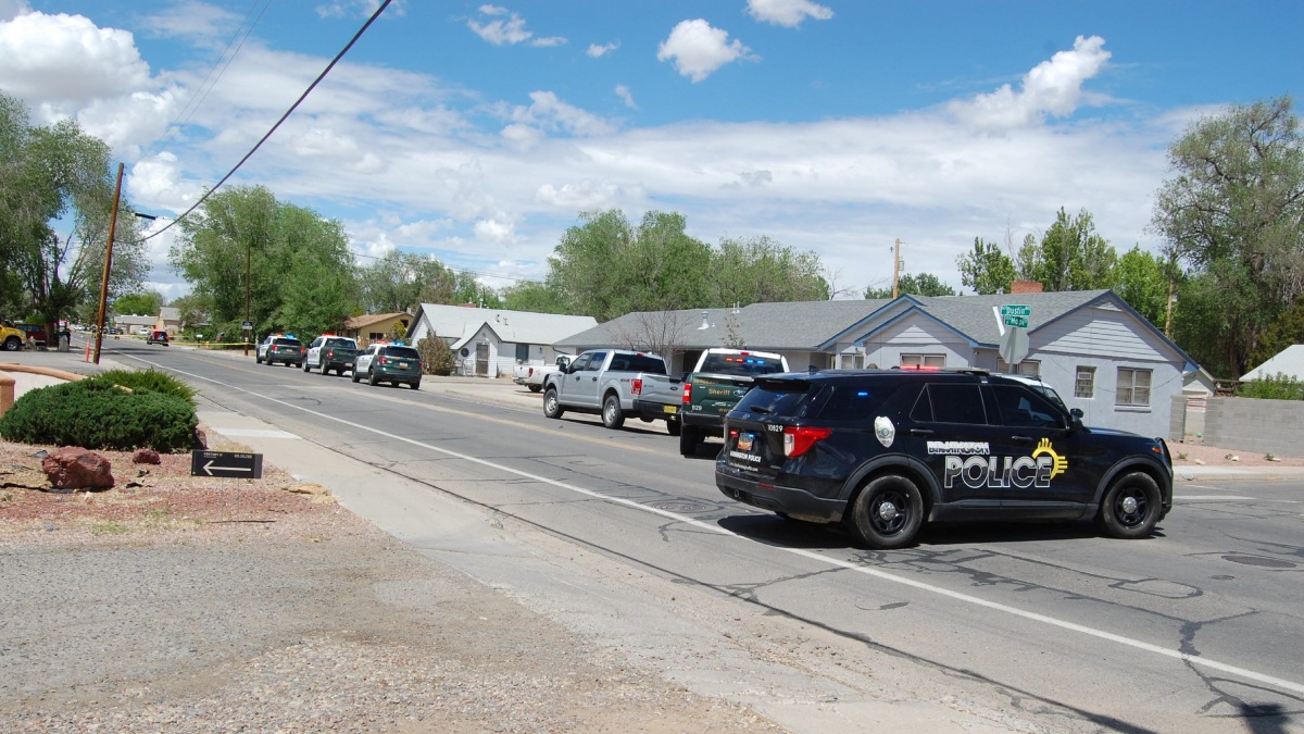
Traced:
[[[711, 457], [679, 457], [661, 423], [549, 421], [507, 384], [415, 392], [180, 347], [106, 350], [180, 372], [216, 421], [286, 432], [241, 434], [257, 451], [365, 462], [336, 491], [349, 507], [795, 730], [872, 729], [875, 700], [917, 696], [1005, 722], [994, 729], [1304, 731], [1296, 482], [1179, 482], [1146, 541], [998, 525], [865, 551], [725, 499]], [[416, 490], [386, 495], [377, 470]]]

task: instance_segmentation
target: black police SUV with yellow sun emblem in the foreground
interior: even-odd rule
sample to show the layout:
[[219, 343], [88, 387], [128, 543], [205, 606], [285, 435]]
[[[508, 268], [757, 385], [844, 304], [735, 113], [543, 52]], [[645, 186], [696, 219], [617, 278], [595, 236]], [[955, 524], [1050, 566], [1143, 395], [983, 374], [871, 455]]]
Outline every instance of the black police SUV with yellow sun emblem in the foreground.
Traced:
[[1163, 439], [1088, 428], [977, 370], [762, 376], [724, 428], [721, 492], [841, 522], [875, 549], [909, 545], [925, 521], [1094, 519], [1144, 538], [1172, 508]]

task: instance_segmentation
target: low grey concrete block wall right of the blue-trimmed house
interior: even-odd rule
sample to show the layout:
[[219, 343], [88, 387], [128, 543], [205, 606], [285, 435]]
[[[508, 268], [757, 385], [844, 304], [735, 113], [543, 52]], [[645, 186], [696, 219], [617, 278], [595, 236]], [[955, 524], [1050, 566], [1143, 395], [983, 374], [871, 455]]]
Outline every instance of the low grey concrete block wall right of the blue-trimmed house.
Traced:
[[[1204, 438], [1193, 436], [1202, 419]], [[1172, 421], [1178, 424], [1176, 417]], [[1184, 436], [1172, 439], [1273, 456], [1304, 457], [1304, 401], [1210, 397], [1204, 415], [1187, 407]]]

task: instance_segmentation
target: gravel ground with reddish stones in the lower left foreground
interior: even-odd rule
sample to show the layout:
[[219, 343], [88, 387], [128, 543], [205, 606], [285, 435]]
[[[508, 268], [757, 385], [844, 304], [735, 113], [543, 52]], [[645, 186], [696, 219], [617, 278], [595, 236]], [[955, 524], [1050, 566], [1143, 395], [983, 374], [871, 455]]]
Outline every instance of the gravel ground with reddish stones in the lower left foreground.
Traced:
[[117, 486], [57, 494], [42, 448], [0, 443], [3, 730], [778, 730], [275, 468], [197, 479], [189, 456], [99, 452]]

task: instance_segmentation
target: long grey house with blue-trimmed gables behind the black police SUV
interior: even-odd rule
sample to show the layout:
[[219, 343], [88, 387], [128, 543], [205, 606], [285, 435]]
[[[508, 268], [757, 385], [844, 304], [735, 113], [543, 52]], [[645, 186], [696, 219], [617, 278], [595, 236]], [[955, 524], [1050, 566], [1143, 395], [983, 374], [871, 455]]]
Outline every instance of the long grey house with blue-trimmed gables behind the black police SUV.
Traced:
[[[1000, 358], [1001, 306], [1026, 306], [1028, 354]], [[673, 334], [665, 337], [662, 334]], [[741, 345], [777, 351], [793, 370], [974, 367], [1039, 375], [1080, 407], [1084, 422], [1162, 436], [1172, 398], [1196, 363], [1111, 290], [876, 300], [754, 303], [627, 313], [554, 343], [662, 351], [672, 374], [702, 350]]]

